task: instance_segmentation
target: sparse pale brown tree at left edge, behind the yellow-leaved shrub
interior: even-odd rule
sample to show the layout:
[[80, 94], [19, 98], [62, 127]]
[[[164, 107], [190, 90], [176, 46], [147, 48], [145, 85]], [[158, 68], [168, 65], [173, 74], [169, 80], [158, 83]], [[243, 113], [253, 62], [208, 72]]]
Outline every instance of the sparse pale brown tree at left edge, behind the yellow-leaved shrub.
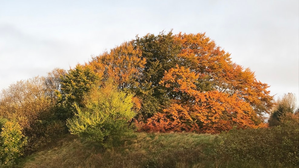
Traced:
[[4, 89], [0, 95], [0, 116], [16, 120], [25, 129], [29, 128], [52, 106], [44, 82], [44, 77], [33, 77], [17, 81]]

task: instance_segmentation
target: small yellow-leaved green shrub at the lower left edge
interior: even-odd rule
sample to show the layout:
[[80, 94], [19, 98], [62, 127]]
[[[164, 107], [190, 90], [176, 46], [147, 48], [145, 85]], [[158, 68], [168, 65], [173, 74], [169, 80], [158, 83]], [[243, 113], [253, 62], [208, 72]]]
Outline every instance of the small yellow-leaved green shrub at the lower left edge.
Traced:
[[23, 154], [26, 138], [17, 122], [7, 121], [0, 133], [0, 166], [14, 165]]

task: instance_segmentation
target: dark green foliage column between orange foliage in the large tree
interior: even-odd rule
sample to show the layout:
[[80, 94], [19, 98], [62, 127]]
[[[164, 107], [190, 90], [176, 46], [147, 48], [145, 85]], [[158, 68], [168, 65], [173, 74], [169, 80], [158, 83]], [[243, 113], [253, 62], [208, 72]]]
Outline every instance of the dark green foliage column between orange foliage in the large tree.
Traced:
[[162, 31], [159, 35], [147, 34], [141, 38], [137, 36], [135, 46], [142, 51], [141, 58], [146, 60], [139, 91], [136, 93], [142, 99], [141, 115], [146, 120], [170, 103], [171, 97], [166, 94], [167, 89], [159, 82], [165, 71], [182, 63], [177, 57], [181, 46], [172, 31], [167, 34]]

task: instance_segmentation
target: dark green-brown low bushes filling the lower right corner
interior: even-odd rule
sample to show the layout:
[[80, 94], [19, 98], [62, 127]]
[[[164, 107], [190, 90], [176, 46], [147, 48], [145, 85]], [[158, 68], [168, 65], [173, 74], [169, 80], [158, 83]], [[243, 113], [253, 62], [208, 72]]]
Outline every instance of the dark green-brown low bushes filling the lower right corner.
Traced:
[[233, 129], [222, 134], [223, 139], [217, 148], [219, 156], [234, 164], [258, 163], [266, 167], [298, 166], [298, 116], [290, 114], [281, 121], [281, 125], [276, 127]]

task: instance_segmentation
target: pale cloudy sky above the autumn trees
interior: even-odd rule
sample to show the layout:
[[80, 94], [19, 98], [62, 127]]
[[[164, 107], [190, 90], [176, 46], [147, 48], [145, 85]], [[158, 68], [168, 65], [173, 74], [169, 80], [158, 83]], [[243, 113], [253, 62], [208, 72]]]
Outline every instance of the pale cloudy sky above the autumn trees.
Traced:
[[299, 101], [298, 0], [0, 0], [0, 90], [171, 29], [205, 32], [275, 98]]

